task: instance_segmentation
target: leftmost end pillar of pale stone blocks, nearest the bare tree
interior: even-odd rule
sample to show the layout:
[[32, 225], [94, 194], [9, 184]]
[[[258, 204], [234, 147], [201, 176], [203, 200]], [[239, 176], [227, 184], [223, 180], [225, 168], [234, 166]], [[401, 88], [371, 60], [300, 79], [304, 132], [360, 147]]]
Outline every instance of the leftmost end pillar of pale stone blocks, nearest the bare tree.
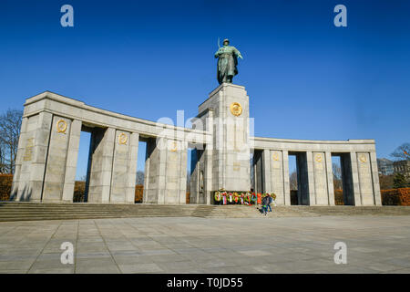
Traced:
[[51, 113], [42, 111], [27, 120], [16, 201], [40, 202], [42, 199], [52, 119]]

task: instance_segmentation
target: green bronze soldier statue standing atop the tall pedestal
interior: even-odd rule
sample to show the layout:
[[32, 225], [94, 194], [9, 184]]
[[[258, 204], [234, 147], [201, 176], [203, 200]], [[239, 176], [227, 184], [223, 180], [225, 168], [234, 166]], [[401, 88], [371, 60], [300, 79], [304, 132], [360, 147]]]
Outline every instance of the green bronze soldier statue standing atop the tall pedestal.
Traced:
[[238, 57], [241, 56], [239, 50], [236, 47], [231, 47], [230, 40], [225, 38], [223, 40], [223, 47], [220, 47], [215, 53], [215, 57], [218, 57], [218, 82], [232, 83], [232, 78], [238, 74]]

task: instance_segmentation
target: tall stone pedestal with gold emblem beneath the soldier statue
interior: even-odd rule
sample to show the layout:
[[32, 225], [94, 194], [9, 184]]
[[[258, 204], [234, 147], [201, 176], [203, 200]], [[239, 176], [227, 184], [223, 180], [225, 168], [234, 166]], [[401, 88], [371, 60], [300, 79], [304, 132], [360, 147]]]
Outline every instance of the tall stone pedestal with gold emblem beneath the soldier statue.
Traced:
[[[244, 87], [222, 83], [199, 107], [212, 111], [211, 190], [251, 191], [249, 97]], [[203, 124], [206, 124], [203, 121]], [[209, 195], [209, 194], [208, 194]], [[209, 203], [211, 200], [205, 200]]]

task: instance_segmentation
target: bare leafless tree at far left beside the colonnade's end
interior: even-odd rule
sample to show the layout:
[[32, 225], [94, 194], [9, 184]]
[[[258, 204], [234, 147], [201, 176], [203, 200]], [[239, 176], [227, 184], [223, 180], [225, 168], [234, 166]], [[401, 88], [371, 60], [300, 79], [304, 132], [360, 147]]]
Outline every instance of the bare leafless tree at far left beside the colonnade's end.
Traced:
[[0, 170], [15, 172], [18, 138], [20, 137], [23, 110], [7, 110], [0, 115]]

